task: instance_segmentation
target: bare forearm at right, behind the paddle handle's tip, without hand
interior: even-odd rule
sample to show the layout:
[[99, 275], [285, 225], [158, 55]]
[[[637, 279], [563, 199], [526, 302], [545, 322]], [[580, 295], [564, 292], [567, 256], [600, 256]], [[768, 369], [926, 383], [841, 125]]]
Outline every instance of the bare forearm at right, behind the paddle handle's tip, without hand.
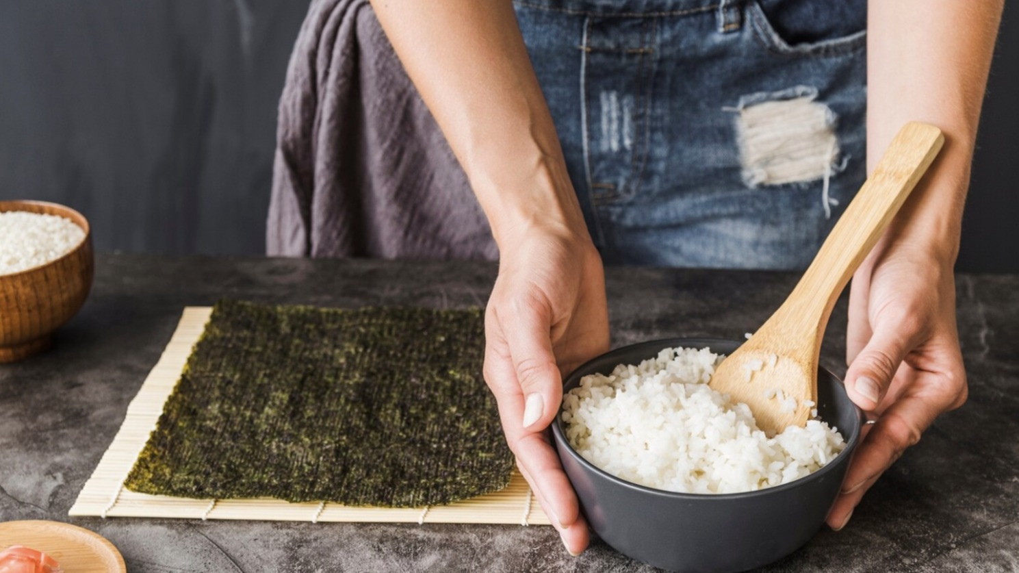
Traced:
[[887, 241], [959, 250], [962, 206], [1004, 0], [871, 0], [868, 7], [867, 170], [899, 127], [926, 121], [946, 144]]

